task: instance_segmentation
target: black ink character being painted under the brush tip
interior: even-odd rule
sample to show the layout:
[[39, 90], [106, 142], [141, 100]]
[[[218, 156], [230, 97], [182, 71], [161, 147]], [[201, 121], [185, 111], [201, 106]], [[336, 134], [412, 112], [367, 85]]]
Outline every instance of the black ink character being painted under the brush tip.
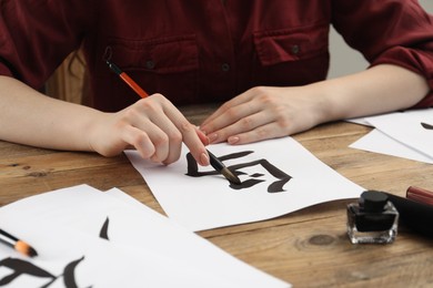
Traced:
[[[251, 153], [254, 153], [253, 151], [244, 151], [244, 152], [239, 152], [239, 153], [232, 153], [228, 155], [223, 155], [219, 157], [221, 162], [228, 161], [228, 160], [234, 160], [234, 158], [240, 158], [244, 157]], [[202, 177], [202, 176], [208, 176], [208, 175], [218, 175], [219, 173], [216, 171], [209, 171], [209, 172], [199, 172], [199, 166], [195, 162], [195, 160], [192, 157], [191, 153], [187, 154], [187, 162], [188, 162], [188, 172], [185, 175], [191, 176], [191, 177]], [[279, 169], [269, 161], [266, 160], [256, 160], [248, 163], [241, 163], [241, 164], [235, 164], [232, 166], [228, 166], [230, 171], [232, 171], [235, 175], [245, 175], [246, 173], [240, 171], [245, 167], [253, 167], [256, 165], [261, 165], [263, 168], [265, 168], [272, 176], [278, 178], [278, 181], [271, 183], [268, 186], [268, 192], [269, 193], [279, 193], [279, 192], [284, 192], [284, 185], [292, 178], [292, 176], [288, 175], [283, 171]], [[264, 182], [264, 179], [259, 179], [259, 177], [264, 176], [264, 174], [261, 173], [254, 173], [252, 175], [249, 175], [250, 178], [243, 181], [241, 184], [233, 184], [230, 183], [230, 187], [232, 189], [243, 189], [243, 188], [249, 188], [252, 187], [261, 182]]]

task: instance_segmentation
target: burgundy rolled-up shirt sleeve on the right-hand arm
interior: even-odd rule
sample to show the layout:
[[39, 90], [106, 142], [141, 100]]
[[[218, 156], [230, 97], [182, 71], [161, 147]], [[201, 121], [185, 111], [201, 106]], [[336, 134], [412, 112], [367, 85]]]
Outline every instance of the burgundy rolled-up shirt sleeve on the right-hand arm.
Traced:
[[416, 0], [334, 0], [332, 23], [371, 66], [395, 64], [423, 75], [429, 94], [414, 107], [433, 106], [433, 17]]

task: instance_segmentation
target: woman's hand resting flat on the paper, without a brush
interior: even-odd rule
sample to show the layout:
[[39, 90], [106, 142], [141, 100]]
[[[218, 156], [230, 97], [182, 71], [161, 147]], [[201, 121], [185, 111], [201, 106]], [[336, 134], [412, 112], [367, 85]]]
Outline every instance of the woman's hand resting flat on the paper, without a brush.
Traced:
[[313, 89], [253, 88], [230, 100], [200, 126], [211, 143], [244, 144], [309, 130], [320, 122]]

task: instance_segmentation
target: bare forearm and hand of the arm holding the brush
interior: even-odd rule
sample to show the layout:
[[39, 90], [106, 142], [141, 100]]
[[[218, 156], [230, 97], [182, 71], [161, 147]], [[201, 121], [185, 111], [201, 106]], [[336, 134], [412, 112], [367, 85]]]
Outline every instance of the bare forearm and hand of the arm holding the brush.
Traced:
[[164, 164], [179, 160], [183, 142], [200, 165], [209, 165], [205, 135], [160, 94], [118, 113], [103, 113], [0, 76], [0, 123], [4, 141], [104, 156], [134, 147], [143, 158]]

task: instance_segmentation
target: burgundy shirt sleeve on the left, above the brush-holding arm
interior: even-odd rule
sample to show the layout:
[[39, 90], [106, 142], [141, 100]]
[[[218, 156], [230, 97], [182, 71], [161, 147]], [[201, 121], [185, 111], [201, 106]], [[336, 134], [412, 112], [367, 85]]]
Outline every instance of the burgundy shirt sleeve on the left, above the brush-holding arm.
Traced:
[[90, 7], [91, 1], [0, 0], [0, 74], [41, 89], [79, 48]]

